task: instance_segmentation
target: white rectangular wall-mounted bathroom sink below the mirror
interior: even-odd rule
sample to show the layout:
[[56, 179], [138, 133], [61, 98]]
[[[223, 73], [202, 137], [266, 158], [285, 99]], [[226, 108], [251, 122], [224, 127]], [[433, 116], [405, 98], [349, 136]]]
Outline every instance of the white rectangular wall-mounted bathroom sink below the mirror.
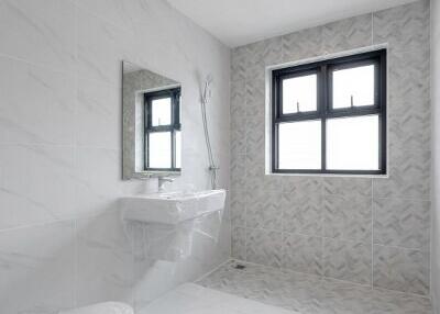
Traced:
[[168, 192], [122, 199], [123, 217], [129, 221], [176, 225], [221, 211], [226, 190]]

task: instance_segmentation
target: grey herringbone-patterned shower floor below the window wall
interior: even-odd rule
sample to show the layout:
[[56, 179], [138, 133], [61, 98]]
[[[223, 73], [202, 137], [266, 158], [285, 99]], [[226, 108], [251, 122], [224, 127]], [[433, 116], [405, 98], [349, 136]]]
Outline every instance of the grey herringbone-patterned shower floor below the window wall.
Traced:
[[432, 313], [429, 299], [419, 295], [372, 290], [365, 285], [250, 263], [245, 263], [245, 269], [237, 269], [235, 265], [235, 261], [230, 261], [197, 283], [300, 314]]

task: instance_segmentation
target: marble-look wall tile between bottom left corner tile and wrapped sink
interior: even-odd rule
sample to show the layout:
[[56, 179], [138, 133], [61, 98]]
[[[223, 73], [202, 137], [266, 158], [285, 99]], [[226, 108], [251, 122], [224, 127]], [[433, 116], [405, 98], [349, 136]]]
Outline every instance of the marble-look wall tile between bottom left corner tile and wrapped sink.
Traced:
[[77, 305], [132, 300], [133, 257], [119, 211], [77, 221]]

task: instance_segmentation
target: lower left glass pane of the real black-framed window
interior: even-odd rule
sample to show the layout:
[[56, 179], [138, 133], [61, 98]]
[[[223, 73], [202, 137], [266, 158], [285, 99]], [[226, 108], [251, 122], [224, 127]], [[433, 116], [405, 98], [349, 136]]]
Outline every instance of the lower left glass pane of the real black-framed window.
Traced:
[[279, 169], [321, 169], [321, 121], [278, 126]]

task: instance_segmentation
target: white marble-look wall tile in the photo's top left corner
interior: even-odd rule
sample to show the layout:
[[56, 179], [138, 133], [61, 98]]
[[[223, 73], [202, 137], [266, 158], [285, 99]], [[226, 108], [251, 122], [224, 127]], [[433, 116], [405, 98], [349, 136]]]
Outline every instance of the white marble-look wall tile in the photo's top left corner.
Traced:
[[[75, 65], [73, 1], [0, 1], [0, 54], [53, 69], [72, 71]], [[3, 70], [1, 71], [3, 72]]]

